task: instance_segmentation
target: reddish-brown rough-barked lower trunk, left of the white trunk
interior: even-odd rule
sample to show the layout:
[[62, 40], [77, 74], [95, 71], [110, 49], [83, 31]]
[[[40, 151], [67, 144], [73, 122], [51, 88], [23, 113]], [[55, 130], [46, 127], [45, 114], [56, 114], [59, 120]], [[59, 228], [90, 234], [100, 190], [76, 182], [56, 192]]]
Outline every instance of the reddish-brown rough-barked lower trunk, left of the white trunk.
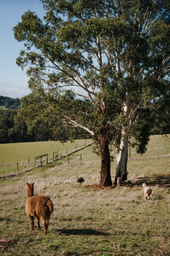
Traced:
[[101, 143], [101, 180], [100, 186], [112, 186], [111, 174], [110, 174], [110, 153], [109, 143], [107, 139], [107, 129], [101, 129], [100, 136]]

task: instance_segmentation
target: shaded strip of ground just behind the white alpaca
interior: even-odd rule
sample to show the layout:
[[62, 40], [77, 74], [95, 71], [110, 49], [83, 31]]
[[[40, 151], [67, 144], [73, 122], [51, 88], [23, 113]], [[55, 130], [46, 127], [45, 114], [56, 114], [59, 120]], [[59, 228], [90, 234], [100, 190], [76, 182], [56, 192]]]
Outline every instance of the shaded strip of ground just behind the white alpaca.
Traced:
[[137, 182], [133, 182], [133, 185], [142, 185], [142, 183], [146, 183], [147, 185], [156, 186], [166, 186], [170, 187], [170, 175], [152, 175], [150, 177], [139, 177], [137, 178]]

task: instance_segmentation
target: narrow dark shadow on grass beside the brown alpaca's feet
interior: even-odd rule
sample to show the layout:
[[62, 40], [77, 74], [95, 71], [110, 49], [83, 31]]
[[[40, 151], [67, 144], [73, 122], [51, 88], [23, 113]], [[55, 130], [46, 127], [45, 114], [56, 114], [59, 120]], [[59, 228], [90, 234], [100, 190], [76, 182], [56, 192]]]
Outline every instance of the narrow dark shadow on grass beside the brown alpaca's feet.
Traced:
[[57, 229], [56, 232], [66, 236], [109, 236], [110, 233], [97, 231], [91, 228], [84, 229]]

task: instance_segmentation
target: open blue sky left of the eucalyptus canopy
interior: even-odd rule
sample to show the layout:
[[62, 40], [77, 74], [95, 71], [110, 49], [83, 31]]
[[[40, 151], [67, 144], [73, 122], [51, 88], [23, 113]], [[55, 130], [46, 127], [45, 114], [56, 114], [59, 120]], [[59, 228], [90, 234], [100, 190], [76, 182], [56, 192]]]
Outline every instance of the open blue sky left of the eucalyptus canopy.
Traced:
[[31, 92], [26, 70], [22, 71], [16, 65], [16, 58], [25, 47], [15, 40], [12, 31], [28, 10], [35, 11], [41, 19], [45, 14], [39, 0], [0, 0], [0, 95], [11, 98], [20, 98]]

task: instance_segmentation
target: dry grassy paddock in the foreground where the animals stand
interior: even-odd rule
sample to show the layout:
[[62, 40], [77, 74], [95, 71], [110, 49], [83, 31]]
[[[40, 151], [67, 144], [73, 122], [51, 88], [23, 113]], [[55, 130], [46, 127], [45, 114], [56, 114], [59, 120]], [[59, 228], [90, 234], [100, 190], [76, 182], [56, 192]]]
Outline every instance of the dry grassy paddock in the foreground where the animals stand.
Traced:
[[[152, 140], [159, 138], [151, 138], [148, 152], [152, 151]], [[160, 140], [158, 148], [165, 147], [164, 143]], [[135, 157], [128, 162], [132, 186], [110, 190], [88, 188], [100, 180], [101, 160], [91, 146], [81, 151], [82, 164], [75, 153], [69, 165], [63, 158], [57, 166], [52, 162], [1, 179], [0, 255], [170, 255], [170, 158], [163, 157], [169, 155], [168, 147], [161, 158], [157, 158], [160, 151], [156, 152], [155, 158]], [[115, 167], [114, 161], [112, 180]], [[85, 180], [80, 187], [77, 176]], [[37, 224], [34, 231], [30, 229], [25, 212], [26, 182], [35, 182], [35, 195], [46, 195], [53, 201], [46, 236]], [[152, 189], [150, 200], [143, 200], [142, 182]]]

